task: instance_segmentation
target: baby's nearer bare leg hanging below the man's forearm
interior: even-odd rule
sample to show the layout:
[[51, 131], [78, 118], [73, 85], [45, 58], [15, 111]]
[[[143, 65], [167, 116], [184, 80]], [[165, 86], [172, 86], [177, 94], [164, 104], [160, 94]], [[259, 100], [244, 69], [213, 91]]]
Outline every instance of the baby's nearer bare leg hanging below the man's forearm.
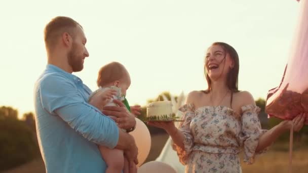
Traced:
[[106, 173], [120, 173], [124, 168], [123, 150], [99, 146], [99, 151], [107, 164]]

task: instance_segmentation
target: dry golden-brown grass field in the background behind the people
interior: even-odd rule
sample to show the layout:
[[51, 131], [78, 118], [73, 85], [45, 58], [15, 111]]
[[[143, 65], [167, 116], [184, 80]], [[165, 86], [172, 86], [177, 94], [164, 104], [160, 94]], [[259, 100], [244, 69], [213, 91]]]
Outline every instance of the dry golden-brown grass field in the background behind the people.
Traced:
[[[168, 139], [167, 135], [155, 135], [152, 136], [151, 150], [148, 155], [147, 161], [155, 160], [166, 140]], [[242, 156], [242, 154], [241, 154]], [[256, 158], [256, 161], [252, 165], [247, 165], [242, 163], [243, 172], [273, 172], [273, 173], [283, 173], [288, 172], [288, 144], [275, 144], [272, 149]], [[296, 145], [294, 144], [293, 149], [293, 159], [292, 159], [292, 169], [295, 173], [308, 172], [308, 144]], [[44, 162], [41, 158], [35, 159], [16, 167], [12, 170], [5, 171], [5, 173], [44, 173], [45, 167]]]

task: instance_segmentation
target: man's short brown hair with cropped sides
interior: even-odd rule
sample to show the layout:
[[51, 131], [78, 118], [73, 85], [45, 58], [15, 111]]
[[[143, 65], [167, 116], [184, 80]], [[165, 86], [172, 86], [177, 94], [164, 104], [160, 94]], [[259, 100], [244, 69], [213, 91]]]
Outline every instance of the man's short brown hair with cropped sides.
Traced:
[[44, 40], [47, 50], [50, 50], [56, 44], [58, 36], [67, 32], [70, 36], [74, 36], [74, 28], [82, 26], [69, 17], [58, 16], [53, 18], [44, 29]]

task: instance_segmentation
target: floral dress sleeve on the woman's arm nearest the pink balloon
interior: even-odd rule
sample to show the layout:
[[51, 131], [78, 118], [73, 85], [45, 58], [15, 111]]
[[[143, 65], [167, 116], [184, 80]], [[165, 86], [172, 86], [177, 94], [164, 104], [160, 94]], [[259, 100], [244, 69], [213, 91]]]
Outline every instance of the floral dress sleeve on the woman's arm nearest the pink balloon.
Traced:
[[244, 162], [252, 164], [256, 154], [264, 153], [265, 148], [258, 153], [255, 152], [259, 137], [267, 130], [261, 129], [261, 123], [258, 117], [260, 108], [255, 105], [246, 105], [242, 108], [242, 131], [240, 133], [241, 146], [244, 148]]

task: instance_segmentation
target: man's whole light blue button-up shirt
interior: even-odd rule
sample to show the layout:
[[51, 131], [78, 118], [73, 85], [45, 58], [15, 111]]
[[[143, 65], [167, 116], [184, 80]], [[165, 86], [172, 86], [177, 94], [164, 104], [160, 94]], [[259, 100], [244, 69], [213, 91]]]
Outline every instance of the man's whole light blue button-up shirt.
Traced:
[[96, 144], [114, 148], [119, 130], [87, 103], [91, 93], [79, 77], [50, 64], [36, 81], [36, 132], [47, 172], [105, 172]]

